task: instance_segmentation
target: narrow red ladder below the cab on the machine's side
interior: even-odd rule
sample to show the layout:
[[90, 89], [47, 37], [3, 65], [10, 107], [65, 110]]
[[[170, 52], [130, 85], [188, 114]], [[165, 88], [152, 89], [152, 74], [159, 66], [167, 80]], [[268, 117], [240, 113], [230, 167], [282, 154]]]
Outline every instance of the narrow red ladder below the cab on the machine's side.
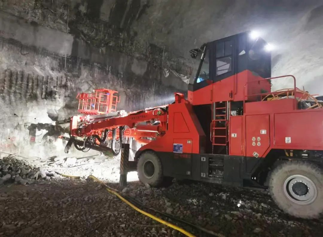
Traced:
[[212, 113], [212, 145], [226, 146], [228, 142], [227, 102], [215, 102]]

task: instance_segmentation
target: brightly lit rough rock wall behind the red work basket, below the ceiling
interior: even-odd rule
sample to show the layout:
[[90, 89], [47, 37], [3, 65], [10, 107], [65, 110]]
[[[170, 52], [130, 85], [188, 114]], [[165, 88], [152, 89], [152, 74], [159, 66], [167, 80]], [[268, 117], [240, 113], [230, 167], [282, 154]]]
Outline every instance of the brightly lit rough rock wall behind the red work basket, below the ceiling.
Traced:
[[[142, 57], [98, 48], [59, 29], [0, 12], [0, 152], [34, 159], [66, 156], [58, 139], [77, 114], [79, 92], [111, 88], [119, 109], [138, 110], [173, 101], [187, 85]], [[73, 150], [72, 150], [73, 151]], [[69, 156], [88, 156], [75, 150]]]

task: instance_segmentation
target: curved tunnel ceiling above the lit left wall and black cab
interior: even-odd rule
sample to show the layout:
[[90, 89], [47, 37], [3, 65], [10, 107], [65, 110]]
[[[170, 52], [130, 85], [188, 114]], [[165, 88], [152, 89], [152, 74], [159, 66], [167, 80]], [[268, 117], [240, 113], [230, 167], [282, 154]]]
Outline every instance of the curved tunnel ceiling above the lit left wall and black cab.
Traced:
[[294, 74], [298, 87], [323, 94], [317, 85], [323, 73], [320, 0], [1, 0], [0, 6], [34, 24], [185, 75], [192, 73], [190, 49], [257, 29], [276, 46], [274, 76]]

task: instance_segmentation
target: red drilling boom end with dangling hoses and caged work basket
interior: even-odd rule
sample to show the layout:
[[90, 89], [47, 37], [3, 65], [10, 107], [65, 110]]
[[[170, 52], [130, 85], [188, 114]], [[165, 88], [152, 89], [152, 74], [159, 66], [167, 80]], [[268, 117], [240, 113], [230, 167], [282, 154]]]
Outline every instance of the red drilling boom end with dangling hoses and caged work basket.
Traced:
[[[77, 95], [78, 112], [83, 115], [57, 122], [57, 124], [70, 123], [70, 139], [65, 150], [67, 153], [74, 143], [75, 148], [80, 151], [86, 152], [89, 149], [95, 149], [118, 155], [125, 139], [129, 141], [130, 138], [133, 138], [139, 144], [147, 144], [158, 136], [158, 128], [149, 121], [143, 125], [137, 124], [138, 121], [141, 121], [141, 116], [138, 119], [136, 116], [131, 116], [133, 121], [127, 121], [130, 115], [138, 115], [142, 111], [130, 113], [124, 110], [116, 111], [117, 104], [120, 102], [120, 97], [116, 96], [116, 93], [118, 91], [95, 89], [93, 93]], [[144, 111], [148, 112], [148, 109]], [[152, 109], [150, 112], [154, 115], [161, 115], [160, 108]], [[109, 124], [102, 128], [103, 123], [107, 121]], [[114, 123], [124, 123], [124, 125], [115, 126]], [[83, 140], [77, 140], [76, 137], [82, 137]]]

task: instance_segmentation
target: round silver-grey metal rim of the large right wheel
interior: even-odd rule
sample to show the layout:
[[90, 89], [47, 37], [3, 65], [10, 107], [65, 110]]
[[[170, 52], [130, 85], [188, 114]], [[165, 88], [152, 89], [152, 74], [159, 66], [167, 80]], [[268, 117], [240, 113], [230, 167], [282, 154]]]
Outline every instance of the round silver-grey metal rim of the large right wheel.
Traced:
[[318, 196], [315, 183], [300, 174], [290, 175], [285, 179], [283, 192], [290, 201], [298, 205], [311, 204]]

